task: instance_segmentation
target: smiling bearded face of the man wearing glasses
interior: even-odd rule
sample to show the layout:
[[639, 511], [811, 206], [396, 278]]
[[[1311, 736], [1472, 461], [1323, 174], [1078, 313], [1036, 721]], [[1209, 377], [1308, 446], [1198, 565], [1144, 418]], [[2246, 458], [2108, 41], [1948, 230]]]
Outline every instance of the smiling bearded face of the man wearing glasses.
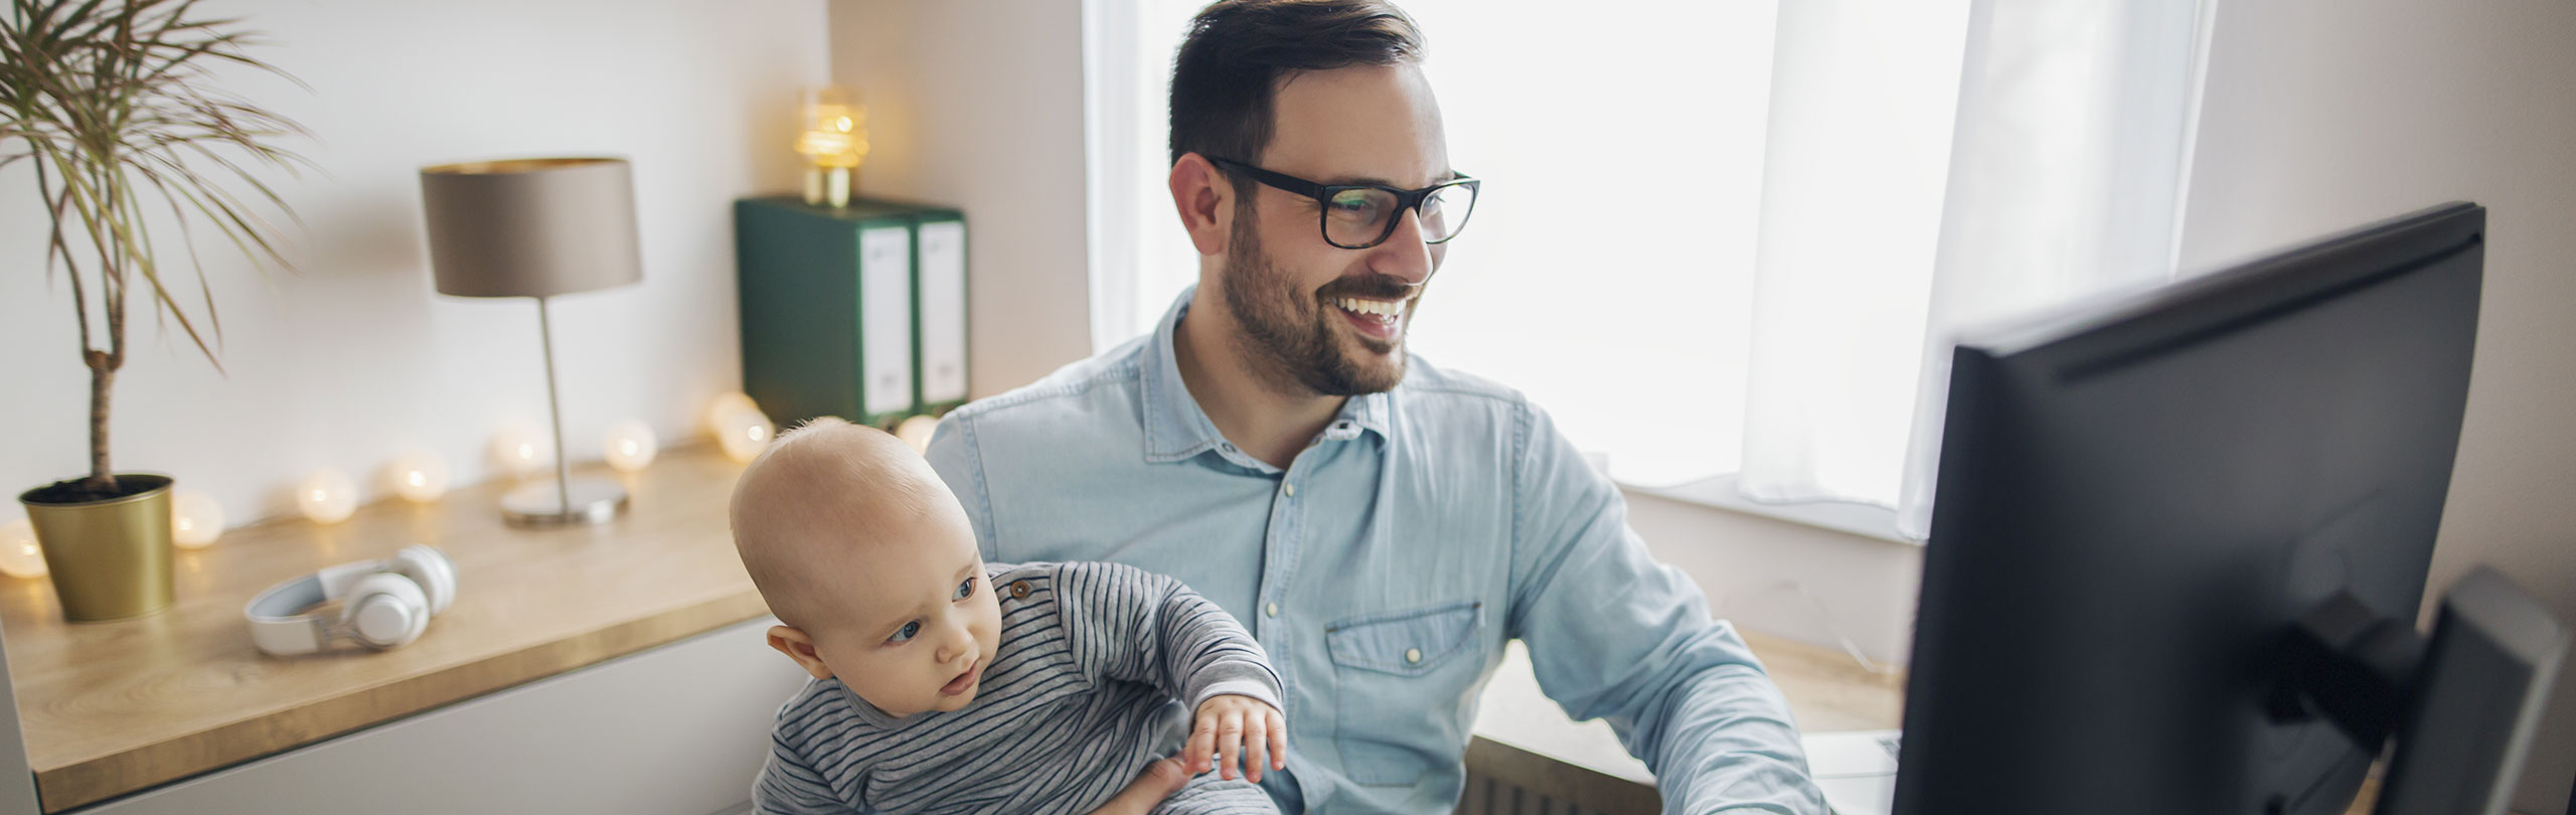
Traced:
[[[1316, 183], [1425, 188], [1453, 178], [1440, 106], [1422, 72], [1342, 67], [1285, 80], [1275, 129], [1255, 165]], [[1321, 204], [1252, 186], [1236, 206], [1224, 302], [1255, 364], [1316, 395], [1383, 392], [1404, 382], [1404, 330], [1445, 245], [1425, 245], [1417, 211], [1365, 250], [1324, 242]]]

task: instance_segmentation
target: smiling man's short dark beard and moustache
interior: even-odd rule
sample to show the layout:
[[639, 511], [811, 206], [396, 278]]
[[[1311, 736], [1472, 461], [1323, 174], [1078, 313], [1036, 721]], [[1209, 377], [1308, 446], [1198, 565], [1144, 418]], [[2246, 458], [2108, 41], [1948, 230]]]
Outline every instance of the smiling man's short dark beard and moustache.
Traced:
[[[1373, 273], [1332, 281], [1316, 294], [1298, 291], [1298, 284], [1270, 263], [1252, 222], [1249, 209], [1236, 211], [1234, 240], [1226, 248], [1226, 276], [1221, 279], [1226, 312], [1234, 315], [1234, 325], [1242, 325], [1236, 346], [1252, 358], [1252, 366], [1267, 379], [1288, 379], [1324, 397], [1388, 392], [1404, 382], [1404, 335], [1383, 343], [1358, 338], [1368, 351], [1386, 353], [1386, 364], [1352, 358], [1334, 338], [1332, 320], [1342, 320], [1342, 315], [1334, 315], [1340, 307], [1332, 302], [1342, 297], [1406, 299], [1417, 294], [1414, 286]], [[1412, 322], [1414, 304], [1419, 299], [1404, 309], [1401, 320]]]

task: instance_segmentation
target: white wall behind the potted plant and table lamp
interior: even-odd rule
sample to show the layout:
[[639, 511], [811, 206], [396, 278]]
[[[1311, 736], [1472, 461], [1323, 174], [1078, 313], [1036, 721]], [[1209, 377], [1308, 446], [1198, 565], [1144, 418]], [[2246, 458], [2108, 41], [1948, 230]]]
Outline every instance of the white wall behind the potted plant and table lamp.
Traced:
[[[706, 400], [737, 389], [729, 201], [796, 186], [796, 93], [824, 80], [819, 0], [219, 0], [273, 46], [255, 52], [312, 90], [227, 72], [224, 88], [304, 121], [325, 173], [281, 193], [309, 230], [301, 273], [263, 284], [209, 245], [224, 325], [219, 377], [183, 335], [131, 312], [118, 377], [118, 469], [178, 475], [234, 526], [289, 513], [286, 490], [337, 467], [376, 477], [410, 446], [453, 482], [489, 472], [513, 420], [544, 423], [531, 299], [430, 289], [417, 168], [469, 157], [634, 160], [644, 284], [559, 299], [556, 361], [574, 462], [644, 418], [701, 433]], [[49, 286], [44, 211], [26, 165], [0, 170], [0, 487], [88, 472], [88, 369], [67, 286]], [[170, 232], [175, 237], [175, 232]], [[175, 253], [173, 250], [165, 250]], [[95, 297], [95, 294], [93, 294]]]

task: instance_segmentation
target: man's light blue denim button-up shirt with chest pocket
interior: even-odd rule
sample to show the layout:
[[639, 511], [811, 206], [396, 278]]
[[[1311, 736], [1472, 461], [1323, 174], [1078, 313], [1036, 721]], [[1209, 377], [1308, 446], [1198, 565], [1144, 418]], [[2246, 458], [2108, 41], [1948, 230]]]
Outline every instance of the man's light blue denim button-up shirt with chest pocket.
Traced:
[[940, 472], [992, 562], [1180, 578], [1270, 650], [1285, 812], [1448, 812], [1476, 696], [1522, 640], [1540, 689], [1610, 720], [1664, 812], [1826, 812], [1788, 702], [1628, 529], [1618, 487], [1515, 389], [1406, 358], [1288, 469], [1226, 444], [1151, 338], [940, 420]]

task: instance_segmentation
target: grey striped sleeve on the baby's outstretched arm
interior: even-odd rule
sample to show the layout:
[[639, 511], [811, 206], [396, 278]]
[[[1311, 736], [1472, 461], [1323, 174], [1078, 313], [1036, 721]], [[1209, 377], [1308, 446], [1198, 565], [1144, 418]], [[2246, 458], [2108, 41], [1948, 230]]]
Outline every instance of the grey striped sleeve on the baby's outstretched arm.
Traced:
[[1056, 570], [1056, 604], [1074, 663], [1095, 678], [1151, 683], [1193, 712], [1221, 694], [1283, 709], [1262, 645], [1180, 580], [1118, 562], [1066, 562]]

